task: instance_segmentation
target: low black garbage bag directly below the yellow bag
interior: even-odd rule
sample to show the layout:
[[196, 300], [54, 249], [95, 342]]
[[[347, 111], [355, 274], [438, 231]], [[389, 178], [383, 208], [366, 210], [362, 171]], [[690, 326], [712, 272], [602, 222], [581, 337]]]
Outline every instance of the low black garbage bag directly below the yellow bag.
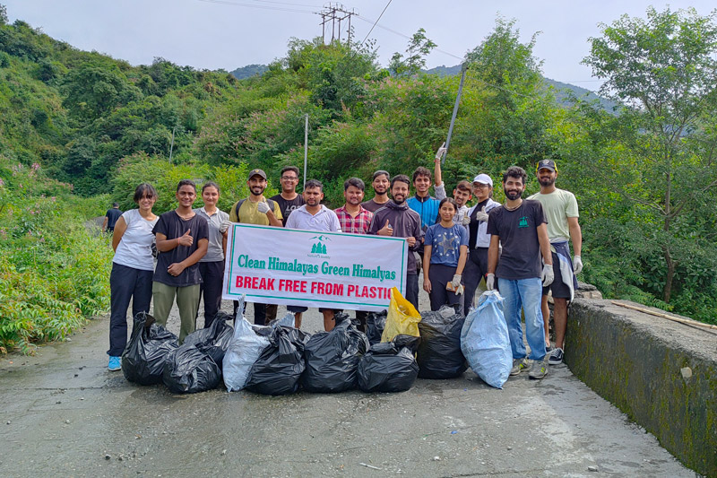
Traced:
[[393, 341], [371, 345], [358, 362], [358, 388], [364, 392], [403, 392], [413, 387], [419, 364], [413, 354], [420, 337], [396, 335]]

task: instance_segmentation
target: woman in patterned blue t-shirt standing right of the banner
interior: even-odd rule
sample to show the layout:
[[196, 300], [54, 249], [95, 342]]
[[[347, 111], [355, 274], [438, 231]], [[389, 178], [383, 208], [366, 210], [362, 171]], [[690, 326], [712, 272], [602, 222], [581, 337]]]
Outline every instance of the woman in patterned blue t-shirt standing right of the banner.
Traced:
[[[454, 224], [458, 204], [446, 197], [438, 204], [441, 222], [428, 227], [423, 249], [423, 290], [428, 292], [431, 310], [445, 304], [462, 304], [461, 279], [468, 256], [468, 230]], [[462, 307], [461, 307], [462, 309]]]

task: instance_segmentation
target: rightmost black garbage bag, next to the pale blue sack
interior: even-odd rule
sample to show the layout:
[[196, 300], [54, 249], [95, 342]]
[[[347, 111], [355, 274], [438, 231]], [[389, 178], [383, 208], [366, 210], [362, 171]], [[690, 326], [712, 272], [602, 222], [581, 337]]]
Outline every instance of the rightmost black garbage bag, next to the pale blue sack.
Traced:
[[455, 378], [467, 369], [461, 351], [465, 317], [451, 306], [420, 313], [420, 345], [416, 361], [420, 378]]

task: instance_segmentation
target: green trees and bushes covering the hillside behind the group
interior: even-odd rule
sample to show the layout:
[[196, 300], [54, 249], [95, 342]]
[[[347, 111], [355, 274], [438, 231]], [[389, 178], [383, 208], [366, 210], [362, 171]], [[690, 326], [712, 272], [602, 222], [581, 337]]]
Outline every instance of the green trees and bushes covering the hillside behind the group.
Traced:
[[[432, 167], [458, 90], [457, 76], [420, 73], [436, 47], [423, 30], [386, 68], [376, 63], [370, 43], [291, 39], [286, 56], [265, 71], [250, 65], [246, 79], [238, 80], [163, 58], [128, 65], [0, 17], [0, 178], [7, 204], [0, 228], [7, 234], [21, 231], [21, 222], [29, 221], [22, 208], [38, 201], [41, 211], [47, 206], [47, 214], [75, 224], [69, 230], [77, 236], [64, 234], [62, 240], [72, 237], [81, 248], [101, 250], [92, 255], [105, 261], [91, 267], [97, 274], [108, 270], [107, 250], [79, 224], [104, 213], [111, 201], [132, 206], [137, 183], [148, 180], [158, 187], [155, 211], [162, 213], [173, 207], [179, 178], [213, 179], [222, 187], [220, 207], [226, 209], [246, 196], [247, 169], [264, 169], [272, 182], [284, 165], [303, 164], [308, 115], [307, 176], [323, 180], [327, 203], [337, 206], [344, 178], [367, 179], [375, 169], [396, 174]], [[623, 17], [604, 26], [585, 63], [607, 81], [602, 96], [621, 105], [615, 115], [598, 100], [574, 99], [566, 106], [562, 93], [540, 74], [540, 60], [532, 53], [537, 39], [522, 43], [514, 22], [499, 18], [467, 55], [446, 184], [479, 171], [497, 179], [512, 164], [531, 172], [536, 161], [556, 158], [558, 186], [573, 191], [581, 205], [583, 279], [609, 298], [717, 323], [714, 30], [714, 15], [652, 9], [646, 19]], [[19, 187], [17, 175], [30, 170], [36, 177]], [[27, 189], [36, 188], [36, 181], [50, 184], [49, 178], [62, 195], [45, 192], [43, 198], [41, 187]], [[531, 178], [528, 192], [537, 189]], [[62, 199], [48, 204], [48, 196]], [[502, 196], [497, 187], [497, 199]], [[55, 225], [47, 223], [44, 237], [55, 244]], [[28, 230], [13, 240], [36, 240], [25, 237]], [[60, 242], [42, 254], [59, 260], [58, 250], [74, 250]], [[23, 244], [3, 244], [17, 249], [4, 255], [3, 271], [30, 274], [33, 249]], [[42, 260], [38, 277], [55, 287]], [[56, 274], [70, 274], [61, 269]], [[97, 287], [107, 282], [95, 279]], [[76, 286], [82, 288], [83, 281], [78, 275]], [[24, 289], [16, 293], [17, 287], [4, 287], [3, 293], [34, 297]], [[31, 292], [39, 285], [28, 287]], [[81, 315], [106, 305], [104, 292], [73, 293], [73, 300], [94, 301], [79, 308]], [[22, 310], [3, 310], [0, 320], [8, 330], [25, 320]], [[4, 347], [54, 336], [60, 335], [9, 336]]]

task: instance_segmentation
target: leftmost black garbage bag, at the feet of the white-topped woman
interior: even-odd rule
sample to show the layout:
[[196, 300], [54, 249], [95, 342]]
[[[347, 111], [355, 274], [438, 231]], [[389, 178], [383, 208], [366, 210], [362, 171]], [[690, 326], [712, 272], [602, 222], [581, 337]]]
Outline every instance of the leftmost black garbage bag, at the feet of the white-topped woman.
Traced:
[[178, 346], [177, 335], [156, 324], [151, 315], [140, 312], [134, 316], [132, 335], [122, 352], [122, 373], [130, 382], [158, 384], [168, 353]]

